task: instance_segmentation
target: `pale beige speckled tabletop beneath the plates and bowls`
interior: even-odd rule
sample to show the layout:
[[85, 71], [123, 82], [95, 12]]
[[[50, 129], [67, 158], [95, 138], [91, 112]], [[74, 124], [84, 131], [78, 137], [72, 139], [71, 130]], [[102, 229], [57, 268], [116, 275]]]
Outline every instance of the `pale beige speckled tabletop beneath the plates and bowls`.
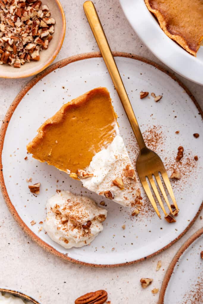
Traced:
[[[55, 61], [98, 50], [82, 10], [83, 1], [61, 2], [65, 9], [67, 32]], [[94, 2], [112, 50], [135, 53], [160, 63], [131, 29], [118, 0]], [[203, 87], [179, 78], [203, 108]], [[27, 81], [0, 80], [0, 120]], [[66, 263], [34, 244], [12, 218], [1, 194], [0, 208], [0, 287], [27, 293], [41, 304], [73, 304], [79, 295], [98, 289], [107, 289], [111, 304], [133, 304], [135, 299], [137, 304], [155, 304], [159, 294], [152, 295], [151, 289], [160, 288], [166, 269], [178, 248], [203, 224], [203, 220], [198, 218], [182, 239], [148, 261], [122, 268], [94, 269]], [[156, 272], [158, 260], [162, 261], [162, 267]], [[144, 290], [139, 282], [142, 277], [154, 279], [152, 285]]]

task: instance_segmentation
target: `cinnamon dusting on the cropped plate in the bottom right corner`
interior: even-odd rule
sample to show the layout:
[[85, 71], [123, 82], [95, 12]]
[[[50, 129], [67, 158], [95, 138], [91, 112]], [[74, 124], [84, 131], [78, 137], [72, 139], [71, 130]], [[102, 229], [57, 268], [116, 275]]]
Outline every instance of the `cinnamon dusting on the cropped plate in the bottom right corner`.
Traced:
[[200, 279], [189, 292], [183, 297], [183, 304], [202, 304], [203, 303], [203, 280]]

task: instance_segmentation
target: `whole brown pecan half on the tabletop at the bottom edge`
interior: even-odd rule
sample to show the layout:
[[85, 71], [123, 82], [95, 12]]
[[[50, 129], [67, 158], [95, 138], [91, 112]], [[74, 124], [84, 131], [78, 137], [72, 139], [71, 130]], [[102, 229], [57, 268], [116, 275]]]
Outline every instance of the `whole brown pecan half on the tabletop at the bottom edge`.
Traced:
[[103, 304], [106, 302], [108, 296], [105, 290], [97, 290], [81, 295], [75, 300], [75, 304]]

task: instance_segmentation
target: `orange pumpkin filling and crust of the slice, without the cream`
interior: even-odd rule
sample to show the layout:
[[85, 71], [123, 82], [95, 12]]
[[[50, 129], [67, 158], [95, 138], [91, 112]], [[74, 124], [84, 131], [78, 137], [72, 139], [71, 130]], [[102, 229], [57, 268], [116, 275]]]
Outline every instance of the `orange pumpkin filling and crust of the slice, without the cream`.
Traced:
[[76, 173], [89, 166], [118, 130], [106, 88], [96, 88], [63, 105], [38, 129], [27, 151], [61, 171]]

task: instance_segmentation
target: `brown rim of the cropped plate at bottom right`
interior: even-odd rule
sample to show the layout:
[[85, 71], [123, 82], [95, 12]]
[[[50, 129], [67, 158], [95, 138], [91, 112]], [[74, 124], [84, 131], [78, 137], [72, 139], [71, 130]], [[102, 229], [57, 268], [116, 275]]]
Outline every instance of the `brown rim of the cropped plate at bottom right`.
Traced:
[[198, 237], [201, 237], [203, 234], [203, 227], [200, 228], [198, 231], [196, 231], [189, 239], [180, 247], [180, 249], [177, 251], [175, 256], [173, 257], [173, 260], [170, 262], [170, 265], [168, 269], [166, 270], [166, 274], [163, 278], [163, 282], [161, 285], [161, 290], [159, 293], [159, 301], [158, 304], [164, 303], [164, 297], [166, 293], [166, 288], [168, 286], [168, 283], [170, 281], [171, 275], [173, 274], [173, 270], [180, 259], [181, 255], [185, 252], [185, 250], [195, 241], [198, 239]]

